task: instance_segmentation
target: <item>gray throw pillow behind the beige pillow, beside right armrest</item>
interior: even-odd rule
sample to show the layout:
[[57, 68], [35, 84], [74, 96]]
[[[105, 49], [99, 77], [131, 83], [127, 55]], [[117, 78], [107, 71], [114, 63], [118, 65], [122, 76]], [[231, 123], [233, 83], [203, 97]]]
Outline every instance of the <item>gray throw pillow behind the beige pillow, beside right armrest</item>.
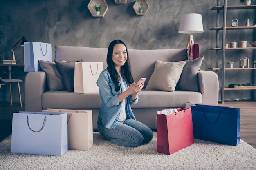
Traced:
[[177, 90], [184, 91], [199, 91], [198, 88], [198, 71], [204, 60], [204, 56], [194, 60], [187, 60], [180, 75], [180, 80], [177, 84]]

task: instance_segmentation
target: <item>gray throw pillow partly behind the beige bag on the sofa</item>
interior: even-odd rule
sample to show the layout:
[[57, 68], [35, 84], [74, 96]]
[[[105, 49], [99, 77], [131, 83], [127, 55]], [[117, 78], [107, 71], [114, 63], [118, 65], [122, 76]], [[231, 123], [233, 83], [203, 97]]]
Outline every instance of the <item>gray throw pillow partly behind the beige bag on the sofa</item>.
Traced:
[[[78, 60], [81, 62], [82, 60]], [[68, 92], [74, 91], [74, 74], [75, 74], [75, 62], [61, 62], [54, 60], [58, 71], [61, 73], [62, 81], [65, 84]]]

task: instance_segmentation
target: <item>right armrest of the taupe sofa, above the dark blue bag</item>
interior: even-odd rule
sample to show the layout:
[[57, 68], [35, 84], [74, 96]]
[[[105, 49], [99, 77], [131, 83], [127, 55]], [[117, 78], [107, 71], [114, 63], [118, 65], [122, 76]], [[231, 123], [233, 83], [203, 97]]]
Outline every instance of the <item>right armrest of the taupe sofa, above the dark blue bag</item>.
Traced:
[[202, 103], [218, 104], [219, 80], [213, 71], [198, 71], [199, 92], [202, 93]]

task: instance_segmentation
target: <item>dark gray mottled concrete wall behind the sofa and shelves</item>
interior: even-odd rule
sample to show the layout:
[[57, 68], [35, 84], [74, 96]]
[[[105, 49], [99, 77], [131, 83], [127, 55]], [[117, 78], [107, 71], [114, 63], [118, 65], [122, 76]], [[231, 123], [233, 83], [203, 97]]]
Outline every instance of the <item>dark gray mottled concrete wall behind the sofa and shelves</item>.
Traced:
[[[205, 55], [202, 70], [215, 66], [216, 31], [209, 28], [216, 26], [216, 11], [210, 10], [217, 0], [147, 0], [150, 8], [146, 15], [138, 16], [133, 10], [136, 0], [127, 0], [126, 4], [115, 4], [114, 0], [106, 0], [108, 11], [104, 18], [92, 17], [87, 8], [90, 0], [8, 0], [0, 4], [0, 22], [3, 24], [5, 38], [0, 41], [2, 59], [11, 59], [11, 47], [22, 36], [28, 41], [47, 42], [54, 46], [88, 46], [108, 47], [115, 39], [123, 40], [129, 49], [176, 49], [186, 48], [187, 34], [178, 33], [180, 18], [187, 13], [202, 14], [204, 33], [194, 34], [195, 43], [201, 43], [201, 55]], [[223, 0], [220, 1], [223, 4]], [[252, 2], [255, 4], [256, 2]], [[230, 5], [240, 5], [239, 0], [228, 0]], [[247, 18], [251, 24], [255, 21], [255, 10], [233, 10], [227, 13], [227, 23], [238, 18], [240, 25], [245, 25]], [[222, 20], [222, 19], [221, 19]], [[222, 33], [220, 31], [220, 33]], [[221, 35], [221, 34], [220, 34]], [[227, 42], [256, 40], [256, 31], [241, 30], [227, 32]], [[239, 59], [249, 56], [255, 59], [256, 50], [229, 51], [226, 60], [235, 62], [239, 67]], [[221, 54], [221, 51], [220, 51]], [[240, 54], [241, 56], [237, 56]], [[23, 48], [15, 48], [17, 63], [23, 63]], [[253, 59], [254, 58], [254, 59]], [[219, 59], [220, 63], [221, 59]], [[252, 63], [251, 63], [252, 66]], [[1, 77], [6, 76], [1, 68]], [[226, 71], [226, 86], [231, 83], [252, 82], [255, 71]], [[24, 79], [22, 69], [14, 72], [12, 78]], [[253, 75], [254, 74], [254, 75]], [[248, 78], [251, 77], [251, 78]], [[255, 78], [254, 78], [255, 81]], [[24, 83], [21, 84], [22, 99]], [[7, 87], [1, 90], [1, 101], [8, 101]], [[256, 98], [254, 91], [226, 91], [225, 99]], [[16, 87], [13, 86], [13, 95]], [[18, 97], [14, 98], [18, 102]]]

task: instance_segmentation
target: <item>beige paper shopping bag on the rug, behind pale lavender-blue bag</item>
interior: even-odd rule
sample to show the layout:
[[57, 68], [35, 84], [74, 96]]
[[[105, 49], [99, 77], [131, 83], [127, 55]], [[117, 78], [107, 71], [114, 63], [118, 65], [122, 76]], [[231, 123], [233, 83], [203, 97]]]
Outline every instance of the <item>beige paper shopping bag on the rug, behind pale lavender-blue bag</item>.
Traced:
[[92, 148], [92, 110], [47, 108], [42, 112], [67, 113], [68, 149], [89, 150]]

